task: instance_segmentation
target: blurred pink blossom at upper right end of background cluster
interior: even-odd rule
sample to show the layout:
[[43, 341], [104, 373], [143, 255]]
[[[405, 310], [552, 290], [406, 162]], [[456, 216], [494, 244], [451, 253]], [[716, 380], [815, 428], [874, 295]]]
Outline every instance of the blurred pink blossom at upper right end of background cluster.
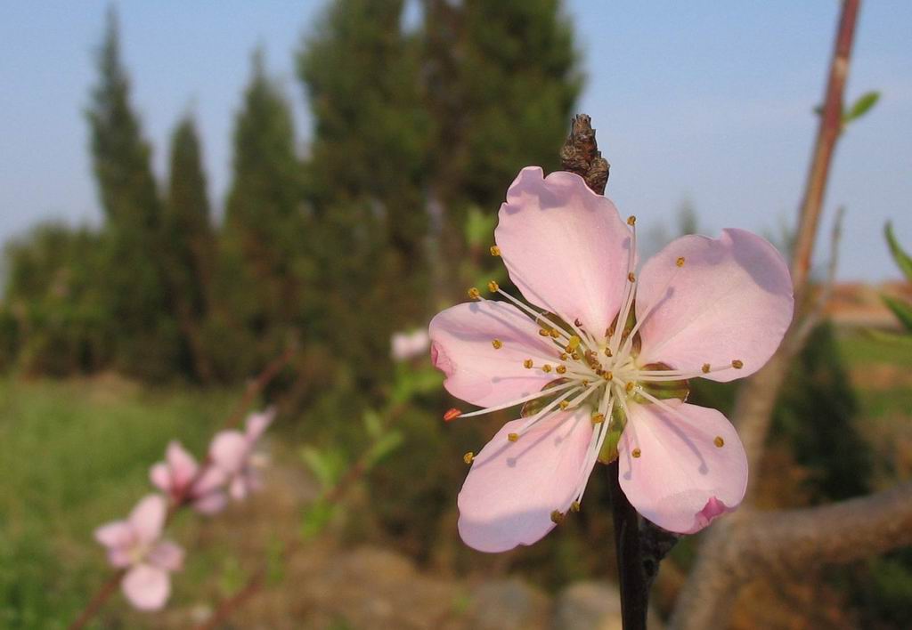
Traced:
[[222, 470], [228, 483], [228, 491], [235, 500], [244, 499], [247, 494], [260, 487], [257, 468], [262, 464], [254, 454], [254, 446], [263, 432], [275, 418], [275, 409], [263, 413], [254, 413], [247, 418], [246, 428], [242, 433], [231, 429], [220, 431], [212, 439], [209, 457], [219, 470]]

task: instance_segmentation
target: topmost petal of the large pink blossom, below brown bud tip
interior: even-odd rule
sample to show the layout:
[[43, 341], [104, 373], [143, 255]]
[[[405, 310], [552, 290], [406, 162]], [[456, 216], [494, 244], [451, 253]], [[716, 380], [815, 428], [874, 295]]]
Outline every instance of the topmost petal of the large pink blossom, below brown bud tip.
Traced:
[[527, 300], [603, 334], [620, 310], [630, 231], [614, 203], [578, 175], [521, 170], [501, 206], [494, 240]]

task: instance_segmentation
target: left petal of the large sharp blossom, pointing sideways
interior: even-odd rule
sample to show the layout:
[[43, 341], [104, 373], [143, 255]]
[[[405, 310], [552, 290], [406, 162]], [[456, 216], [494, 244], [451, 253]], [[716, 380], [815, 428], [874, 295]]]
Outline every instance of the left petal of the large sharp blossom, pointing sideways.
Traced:
[[[527, 369], [559, 351], [538, 334], [539, 326], [513, 305], [493, 300], [456, 305], [430, 321], [431, 360], [446, 375], [443, 386], [453, 396], [489, 407], [540, 391], [554, 375]], [[492, 341], [503, 346], [495, 349]]]

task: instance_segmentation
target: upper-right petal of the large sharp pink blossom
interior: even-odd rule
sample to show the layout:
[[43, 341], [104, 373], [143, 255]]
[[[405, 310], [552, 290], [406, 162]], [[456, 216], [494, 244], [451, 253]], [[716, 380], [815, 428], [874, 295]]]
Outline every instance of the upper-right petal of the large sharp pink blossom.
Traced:
[[643, 266], [637, 316], [654, 303], [640, 327], [640, 365], [700, 371], [738, 359], [742, 369], [707, 375], [730, 381], [756, 372], [779, 347], [792, 322], [792, 279], [780, 253], [751, 232], [684, 236]]

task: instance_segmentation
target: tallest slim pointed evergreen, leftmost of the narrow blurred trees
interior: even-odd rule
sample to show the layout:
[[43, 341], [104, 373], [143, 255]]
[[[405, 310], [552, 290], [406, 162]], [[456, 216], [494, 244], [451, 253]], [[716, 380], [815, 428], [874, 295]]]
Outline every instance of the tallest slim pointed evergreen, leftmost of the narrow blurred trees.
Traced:
[[161, 264], [161, 200], [150, 146], [130, 108], [130, 80], [120, 61], [113, 10], [98, 71], [88, 122], [109, 260], [98, 282], [107, 290], [117, 366], [137, 376], [166, 377], [176, 362], [179, 336]]

